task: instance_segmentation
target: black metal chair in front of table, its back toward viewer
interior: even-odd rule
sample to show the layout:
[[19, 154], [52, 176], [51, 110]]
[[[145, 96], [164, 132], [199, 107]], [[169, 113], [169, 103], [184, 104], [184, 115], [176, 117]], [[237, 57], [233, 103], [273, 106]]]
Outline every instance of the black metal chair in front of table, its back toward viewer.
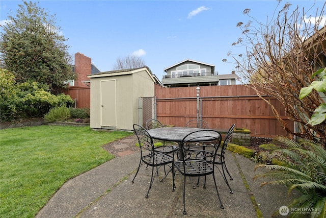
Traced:
[[[216, 193], [221, 204], [221, 208], [224, 208], [218, 186], [216, 185], [215, 175], [214, 175], [214, 164], [211, 164], [215, 159], [216, 153], [221, 144], [221, 134], [215, 130], [199, 130], [188, 134], [185, 136], [181, 143], [182, 160], [177, 160], [174, 162], [174, 165], [183, 176], [183, 214], [186, 214], [185, 210], [185, 181], [186, 177], [200, 177], [205, 176], [205, 185], [206, 185], [206, 176], [212, 175]], [[196, 149], [198, 148], [198, 149]], [[201, 152], [201, 155], [198, 156], [198, 151]], [[205, 186], [204, 185], [204, 186]]]

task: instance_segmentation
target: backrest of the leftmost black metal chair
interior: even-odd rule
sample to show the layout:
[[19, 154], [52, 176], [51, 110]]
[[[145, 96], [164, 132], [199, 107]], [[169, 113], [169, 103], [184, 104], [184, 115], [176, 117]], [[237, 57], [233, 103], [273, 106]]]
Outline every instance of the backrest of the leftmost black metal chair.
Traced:
[[141, 152], [143, 150], [147, 150], [150, 153], [154, 154], [154, 143], [152, 137], [148, 134], [147, 130], [138, 125], [133, 125], [133, 132], [137, 136], [139, 147], [141, 149]]

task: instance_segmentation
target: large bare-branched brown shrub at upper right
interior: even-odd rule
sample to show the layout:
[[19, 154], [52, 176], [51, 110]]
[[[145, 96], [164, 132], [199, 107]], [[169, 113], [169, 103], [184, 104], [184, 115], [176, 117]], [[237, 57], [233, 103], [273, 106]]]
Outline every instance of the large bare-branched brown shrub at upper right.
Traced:
[[[305, 18], [304, 9], [289, 12], [290, 5], [286, 4], [275, 19], [266, 21], [266, 25], [255, 20], [256, 27], [250, 22], [242, 27], [239, 22], [242, 39], [233, 43], [246, 47], [246, 55], [233, 57], [240, 75], [249, 81], [261, 99], [261, 90], [278, 99], [289, 119], [298, 124], [300, 131], [291, 131], [270, 101], [264, 99], [289, 136], [318, 139], [324, 143], [325, 122], [316, 126], [308, 124], [313, 111], [323, 103], [320, 94], [313, 91], [309, 98], [302, 100], [298, 96], [300, 89], [313, 81], [313, 72], [325, 67], [326, 28], [318, 28], [325, 26], [321, 23], [325, 4], [320, 11], [316, 10], [314, 18]], [[248, 15], [249, 11], [244, 12]]]

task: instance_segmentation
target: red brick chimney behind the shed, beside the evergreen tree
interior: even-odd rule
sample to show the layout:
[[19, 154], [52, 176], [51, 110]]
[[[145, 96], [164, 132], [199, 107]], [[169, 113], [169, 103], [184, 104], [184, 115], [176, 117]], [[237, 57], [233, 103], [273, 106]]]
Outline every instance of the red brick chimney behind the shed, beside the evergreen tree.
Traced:
[[75, 83], [74, 86], [78, 87], [86, 87], [86, 83], [82, 83], [82, 81], [87, 81], [87, 75], [92, 73], [92, 59], [86, 57], [84, 54], [80, 54], [77, 52], [75, 54]]

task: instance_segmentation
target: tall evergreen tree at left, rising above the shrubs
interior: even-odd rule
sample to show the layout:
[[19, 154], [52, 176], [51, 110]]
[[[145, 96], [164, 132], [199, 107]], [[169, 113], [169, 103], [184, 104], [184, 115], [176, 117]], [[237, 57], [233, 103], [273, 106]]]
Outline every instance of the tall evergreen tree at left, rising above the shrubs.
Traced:
[[1, 67], [13, 72], [17, 83], [37, 81], [52, 93], [61, 92], [73, 72], [67, 39], [59, 34], [55, 17], [36, 3], [23, 2], [8, 18], [0, 35]]

